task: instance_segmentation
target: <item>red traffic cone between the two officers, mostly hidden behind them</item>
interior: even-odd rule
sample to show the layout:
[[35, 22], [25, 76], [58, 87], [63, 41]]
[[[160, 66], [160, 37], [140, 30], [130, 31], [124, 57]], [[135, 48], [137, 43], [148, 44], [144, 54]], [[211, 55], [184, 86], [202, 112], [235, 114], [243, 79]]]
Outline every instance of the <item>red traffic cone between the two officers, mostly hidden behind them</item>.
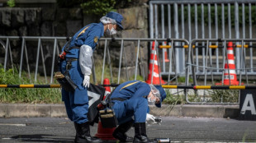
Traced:
[[[104, 79], [103, 85], [110, 85], [110, 82], [107, 78]], [[110, 90], [110, 86], [104, 86], [104, 88], [106, 89], [105, 95], [104, 95], [104, 99], [105, 99], [106, 95], [111, 93], [111, 90]], [[112, 133], [115, 131], [115, 129], [116, 129], [116, 127], [103, 128], [102, 127], [102, 122], [99, 121], [98, 124], [97, 124], [97, 133], [95, 134], [95, 136], [102, 139], [102, 141], [116, 140], [116, 138], [114, 136], [112, 136]]]

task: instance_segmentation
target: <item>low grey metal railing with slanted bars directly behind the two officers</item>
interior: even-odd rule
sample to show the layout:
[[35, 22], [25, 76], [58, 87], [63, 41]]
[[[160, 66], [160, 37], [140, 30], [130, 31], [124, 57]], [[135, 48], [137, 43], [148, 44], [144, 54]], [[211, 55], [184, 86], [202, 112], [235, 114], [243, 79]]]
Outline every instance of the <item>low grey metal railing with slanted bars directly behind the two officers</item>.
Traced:
[[[132, 38], [126, 38], [126, 39], [121, 39], [121, 38], [116, 38], [114, 39], [115, 42], [119, 45], [120, 48], [118, 48], [118, 67], [117, 71], [113, 71], [113, 64], [111, 63], [111, 42], [113, 39], [110, 38], [102, 38], [100, 39], [100, 43], [103, 45], [101, 47], [97, 48], [103, 48], [102, 49], [102, 76], [96, 76], [96, 71], [95, 67], [93, 64], [92, 67], [92, 80], [94, 83], [97, 83], [97, 81], [101, 81], [101, 84], [103, 84], [103, 79], [105, 76], [110, 75], [110, 80], [111, 83], [116, 83], [120, 84], [121, 79], [123, 81], [130, 81], [130, 80], [137, 80], [137, 76], [141, 76], [143, 81], [146, 81], [146, 77], [148, 76], [148, 61], [145, 61], [145, 64], [142, 64], [143, 62], [143, 56], [141, 53], [141, 48], [145, 46], [148, 48], [148, 45], [150, 43], [155, 42], [155, 52], [157, 53], [157, 56], [159, 55], [159, 49], [164, 48], [163, 45], [160, 45], [160, 43], [168, 41], [168, 44], [170, 46], [169, 48], [170, 53], [170, 59], [169, 62], [166, 63], [168, 67], [165, 67], [166, 71], [168, 72], [168, 83], [176, 79], [179, 76], [179, 73], [175, 72], [175, 68], [178, 67], [176, 65], [175, 58], [176, 54], [174, 51], [174, 45], [175, 43], [182, 43], [184, 45], [187, 45], [187, 53], [188, 53], [188, 41], [186, 39], [146, 39], [146, 38], [141, 38], [141, 39], [132, 39]], [[24, 36], [24, 37], [17, 37], [17, 36], [0, 36], [0, 48], [4, 49], [4, 58], [0, 58], [0, 63], [2, 61], [2, 65], [4, 67], [4, 70], [7, 70], [7, 68], [11, 67], [16, 67], [19, 69], [19, 76], [21, 77], [21, 72], [22, 71], [27, 71], [28, 76], [30, 79], [34, 79], [34, 81], [38, 81], [38, 76], [39, 76], [39, 71], [40, 75], [44, 76], [45, 78], [45, 83], [50, 83], [52, 84], [54, 82], [54, 73], [55, 71], [58, 71], [58, 60], [57, 57], [61, 51], [60, 48], [65, 44], [66, 38], [65, 37], [29, 37], [29, 36]], [[124, 44], [129, 44], [133, 43], [135, 47], [125, 47]], [[14, 46], [14, 44], [17, 44]], [[29, 46], [28, 46], [29, 44]], [[45, 53], [45, 47], [49, 46], [48, 52]], [[173, 47], [173, 48], [171, 48]], [[127, 67], [127, 63], [130, 61], [127, 61], [127, 53], [124, 52], [124, 48], [129, 48], [132, 51], [135, 51], [135, 53], [132, 53], [132, 56], [134, 57], [135, 65], [133, 68], [134, 71], [131, 71], [131, 74], [128, 74], [129, 69]], [[150, 47], [152, 50], [152, 47]], [[148, 52], [148, 51], [147, 51]], [[153, 51], [150, 51], [153, 52]], [[145, 52], [144, 52], [145, 53]], [[13, 55], [16, 54], [18, 59], [13, 59]], [[148, 53], [145, 53], [145, 55], [148, 55]], [[187, 57], [187, 55], [183, 55], [183, 57]], [[48, 62], [45, 63], [45, 59], [49, 58]], [[159, 62], [159, 56], [157, 57], [158, 59], [155, 59], [159, 64], [159, 68], [164, 65], [161, 65]], [[2, 59], [2, 60], [1, 60]], [[17, 62], [19, 61], [19, 62]], [[124, 61], [124, 62], [123, 62]], [[92, 58], [92, 62], [94, 62]], [[185, 62], [183, 62], [183, 65], [185, 65]], [[109, 72], [105, 70], [105, 68], [108, 66]], [[40, 68], [39, 68], [40, 67]], [[139, 72], [140, 69], [140, 72]], [[153, 69], [154, 70], [154, 69]], [[171, 79], [170, 75], [176, 75], [176, 78]], [[122, 75], [122, 76], [121, 76]], [[32, 77], [34, 76], [34, 77]], [[115, 76], [116, 81], [114, 81], [113, 76]], [[161, 77], [161, 74], [160, 74]], [[100, 79], [100, 80], [99, 80]], [[153, 78], [151, 78], [153, 80]], [[31, 81], [33, 82], [33, 81]], [[152, 83], [152, 81], [151, 81]], [[177, 82], [176, 82], [177, 83]]]

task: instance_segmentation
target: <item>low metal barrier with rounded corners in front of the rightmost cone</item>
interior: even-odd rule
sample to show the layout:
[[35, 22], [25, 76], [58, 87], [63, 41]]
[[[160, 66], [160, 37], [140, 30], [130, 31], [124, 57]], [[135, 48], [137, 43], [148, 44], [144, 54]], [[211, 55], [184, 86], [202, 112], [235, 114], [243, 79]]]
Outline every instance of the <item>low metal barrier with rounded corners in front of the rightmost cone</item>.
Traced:
[[[239, 85], [243, 85], [242, 80], [246, 82], [244, 85], [254, 85], [254, 83], [249, 83], [249, 77], [254, 78], [256, 73], [256, 57], [252, 54], [253, 48], [256, 48], [256, 39], [193, 39], [189, 44], [189, 62], [187, 62], [189, 68], [186, 71], [186, 85], [188, 85], [190, 76], [192, 76], [193, 85], [201, 85], [197, 81], [200, 76], [202, 76], [203, 85], [216, 85], [216, 81], [219, 81], [219, 85], [224, 85], [224, 79], [232, 80], [230, 78], [230, 67], [225, 67], [225, 64], [229, 65], [230, 62], [227, 51], [228, 42], [234, 42], [234, 51], [239, 50], [239, 53], [241, 53], [239, 57], [235, 54], [235, 61], [239, 60], [241, 67], [236, 67], [237, 64], [233, 63], [236, 67], [235, 74], [239, 75], [237, 76]], [[219, 53], [216, 53], [217, 48], [220, 49]], [[201, 53], [201, 55], [198, 53]], [[228, 71], [229, 76], [225, 76], [225, 70]], [[218, 78], [220, 76], [221, 78]], [[207, 79], [211, 81], [207, 82]], [[197, 89], [195, 90], [197, 91]], [[196, 92], [195, 94], [197, 95], [198, 93]], [[206, 98], [206, 95], [206, 90], [203, 90], [203, 98]], [[186, 99], [189, 104], [226, 104], [221, 102], [207, 103], [205, 99], [202, 99], [201, 102], [191, 102], [188, 100], [187, 94]]]

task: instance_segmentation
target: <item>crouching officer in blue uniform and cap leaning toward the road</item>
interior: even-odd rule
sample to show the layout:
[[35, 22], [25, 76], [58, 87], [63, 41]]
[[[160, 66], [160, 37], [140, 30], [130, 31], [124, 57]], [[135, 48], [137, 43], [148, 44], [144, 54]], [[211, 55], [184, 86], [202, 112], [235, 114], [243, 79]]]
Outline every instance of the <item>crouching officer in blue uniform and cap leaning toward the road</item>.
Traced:
[[[161, 107], [166, 93], [160, 85], [149, 85], [142, 81], [127, 81], [111, 93], [112, 109], [116, 114], [119, 126], [113, 136], [121, 142], [154, 142], [146, 135], [146, 120], [152, 119], [148, 113], [148, 104]], [[134, 120], [132, 119], [134, 117]], [[134, 138], [126, 136], [130, 127], [135, 127]]]

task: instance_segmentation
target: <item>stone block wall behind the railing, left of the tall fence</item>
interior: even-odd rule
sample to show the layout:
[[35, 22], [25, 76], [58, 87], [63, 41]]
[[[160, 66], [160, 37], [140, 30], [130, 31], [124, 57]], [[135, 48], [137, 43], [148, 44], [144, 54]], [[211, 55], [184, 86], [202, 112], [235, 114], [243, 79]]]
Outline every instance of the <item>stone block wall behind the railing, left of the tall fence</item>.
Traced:
[[[148, 7], [143, 6], [118, 9], [117, 12], [124, 16], [123, 26], [125, 30], [117, 34], [117, 37], [123, 38], [146, 38], [148, 36]], [[99, 22], [98, 16], [86, 16], [80, 8], [56, 8], [56, 7], [36, 7], [36, 8], [0, 8], [0, 35], [3, 36], [73, 36], [84, 25], [92, 22]], [[44, 44], [44, 54], [46, 67], [51, 67], [53, 43]], [[64, 42], [62, 43], [64, 44]], [[59, 44], [60, 46], [62, 44]], [[104, 43], [103, 43], [104, 44]], [[103, 44], [100, 44], [94, 53], [94, 58], [102, 60]], [[30, 64], [36, 61], [37, 44], [28, 44], [28, 53], [30, 55]], [[111, 61], [114, 71], [119, 66], [120, 43], [111, 42], [109, 44], [111, 52]], [[21, 40], [11, 45], [12, 54], [17, 53], [12, 58], [14, 62], [19, 63], [21, 52]], [[142, 53], [142, 64], [147, 69], [148, 63], [148, 47], [147, 44], [140, 44]], [[135, 72], [135, 51], [137, 49], [136, 42], [125, 44], [124, 52], [126, 53], [127, 66], [130, 69], [129, 75]], [[4, 54], [1, 53], [1, 57]], [[122, 59], [122, 71], [126, 67], [125, 60]], [[0, 63], [3, 63], [0, 59]], [[35, 64], [35, 63], [34, 63]], [[34, 69], [35, 65], [31, 68]], [[39, 67], [41, 68], [41, 67]], [[24, 68], [23, 68], [24, 69]], [[141, 67], [140, 67], [141, 69]], [[40, 70], [39, 70], [40, 71]], [[50, 70], [47, 71], [50, 74]], [[125, 73], [125, 72], [122, 72]], [[121, 75], [122, 76], [122, 75]]]

